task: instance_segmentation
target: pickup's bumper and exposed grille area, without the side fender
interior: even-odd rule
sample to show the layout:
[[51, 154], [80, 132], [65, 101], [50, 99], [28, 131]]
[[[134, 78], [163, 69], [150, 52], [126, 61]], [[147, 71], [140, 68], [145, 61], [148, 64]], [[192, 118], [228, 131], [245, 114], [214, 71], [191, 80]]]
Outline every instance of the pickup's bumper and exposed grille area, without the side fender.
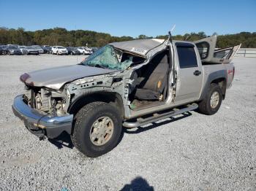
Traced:
[[67, 113], [69, 93], [47, 87], [25, 86], [24, 95], [18, 95], [12, 105], [14, 114], [23, 120], [26, 128], [38, 136], [55, 139], [64, 131], [71, 133], [73, 115]]

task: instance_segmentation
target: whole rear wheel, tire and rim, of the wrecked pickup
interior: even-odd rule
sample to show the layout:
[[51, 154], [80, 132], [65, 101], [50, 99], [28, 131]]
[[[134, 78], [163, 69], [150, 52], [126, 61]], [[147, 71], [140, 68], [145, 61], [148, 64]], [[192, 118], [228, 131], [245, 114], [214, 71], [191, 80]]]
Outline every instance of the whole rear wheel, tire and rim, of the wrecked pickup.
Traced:
[[203, 114], [215, 114], [222, 104], [222, 90], [219, 85], [211, 84], [206, 98], [198, 104], [198, 109]]

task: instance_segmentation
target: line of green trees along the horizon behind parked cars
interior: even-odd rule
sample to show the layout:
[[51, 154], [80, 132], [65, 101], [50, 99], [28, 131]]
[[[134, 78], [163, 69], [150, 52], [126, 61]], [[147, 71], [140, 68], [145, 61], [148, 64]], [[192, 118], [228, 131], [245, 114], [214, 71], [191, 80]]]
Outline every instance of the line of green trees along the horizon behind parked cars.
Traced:
[[[167, 39], [167, 35], [154, 36], [158, 39]], [[173, 39], [195, 41], [207, 37], [204, 32], [190, 33], [184, 35], [173, 36]], [[153, 36], [139, 35], [137, 38], [132, 36], [111, 36], [106, 33], [98, 33], [95, 31], [72, 30], [67, 31], [66, 28], [50, 28], [37, 31], [25, 31], [24, 28], [0, 28], [0, 44], [47, 44], [61, 45], [65, 47], [102, 47], [110, 42], [121, 42], [132, 39], [148, 39]], [[256, 47], [256, 32], [241, 32], [239, 34], [219, 35], [217, 39], [217, 47], [227, 47], [242, 43], [241, 47]]]

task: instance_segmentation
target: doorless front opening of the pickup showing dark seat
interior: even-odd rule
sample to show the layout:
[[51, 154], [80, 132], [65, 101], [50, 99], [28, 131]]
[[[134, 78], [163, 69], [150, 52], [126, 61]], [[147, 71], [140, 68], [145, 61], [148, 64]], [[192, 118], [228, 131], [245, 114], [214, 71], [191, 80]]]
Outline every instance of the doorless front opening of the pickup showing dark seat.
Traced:
[[136, 70], [129, 101], [132, 110], [162, 104], [167, 98], [167, 84], [170, 71], [170, 52], [159, 52], [146, 66]]

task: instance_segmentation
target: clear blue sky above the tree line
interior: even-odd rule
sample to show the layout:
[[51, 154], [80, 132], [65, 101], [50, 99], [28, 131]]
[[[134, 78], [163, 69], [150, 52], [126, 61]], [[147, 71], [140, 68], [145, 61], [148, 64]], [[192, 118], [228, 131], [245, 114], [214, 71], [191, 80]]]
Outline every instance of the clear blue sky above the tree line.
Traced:
[[0, 0], [0, 27], [89, 30], [112, 36], [256, 32], [256, 0]]

